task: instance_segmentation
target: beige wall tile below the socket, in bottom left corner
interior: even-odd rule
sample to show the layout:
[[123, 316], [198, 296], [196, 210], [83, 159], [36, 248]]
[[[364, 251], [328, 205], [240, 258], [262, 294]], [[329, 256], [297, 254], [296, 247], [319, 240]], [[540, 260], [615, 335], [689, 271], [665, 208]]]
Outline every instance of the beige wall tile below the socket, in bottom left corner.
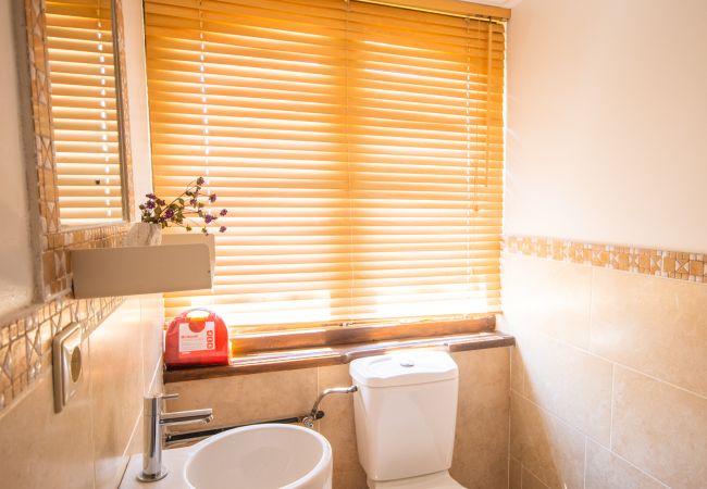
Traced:
[[1, 487], [94, 487], [88, 394], [88, 381], [84, 377], [71, 403], [55, 414], [51, 372], [46, 372], [24, 398], [3, 412], [0, 417]]

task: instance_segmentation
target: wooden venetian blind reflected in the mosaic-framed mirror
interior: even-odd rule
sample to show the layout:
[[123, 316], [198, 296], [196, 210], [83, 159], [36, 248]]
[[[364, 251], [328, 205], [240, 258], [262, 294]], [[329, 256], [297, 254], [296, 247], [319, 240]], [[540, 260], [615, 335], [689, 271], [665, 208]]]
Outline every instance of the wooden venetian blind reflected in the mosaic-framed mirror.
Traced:
[[52, 131], [61, 223], [122, 220], [110, 0], [48, 0]]

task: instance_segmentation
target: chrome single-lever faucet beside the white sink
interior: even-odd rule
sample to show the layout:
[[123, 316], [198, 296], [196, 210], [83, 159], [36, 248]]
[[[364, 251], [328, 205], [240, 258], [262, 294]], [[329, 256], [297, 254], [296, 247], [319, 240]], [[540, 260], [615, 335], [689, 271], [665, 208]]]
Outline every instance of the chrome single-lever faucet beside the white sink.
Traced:
[[166, 477], [168, 469], [162, 466], [162, 441], [164, 427], [188, 425], [191, 423], [210, 423], [213, 419], [211, 409], [164, 412], [164, 401], [176, 399], [179, 394], [157, 394], [145, 398], [145, 452], [142, 453], [142, 472], [137, 479], [154, 482]]

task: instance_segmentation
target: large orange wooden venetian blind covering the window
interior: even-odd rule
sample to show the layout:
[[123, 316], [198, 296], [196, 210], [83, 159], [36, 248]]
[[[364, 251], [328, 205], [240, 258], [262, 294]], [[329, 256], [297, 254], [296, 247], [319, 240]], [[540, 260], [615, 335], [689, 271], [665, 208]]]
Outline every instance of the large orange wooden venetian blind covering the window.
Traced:
[[147, 0], [156, 190], [228, 209], [231, 325], [498, 310], [504, 25], [343, 0]]

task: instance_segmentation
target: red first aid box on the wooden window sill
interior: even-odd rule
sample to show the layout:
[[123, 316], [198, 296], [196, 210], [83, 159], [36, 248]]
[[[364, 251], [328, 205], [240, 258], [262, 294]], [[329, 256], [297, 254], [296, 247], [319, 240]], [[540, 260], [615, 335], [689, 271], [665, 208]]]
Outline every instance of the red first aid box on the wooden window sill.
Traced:
[[227, 365], [228, 329], [207, 309], [190, 309], [176, 316], [164, 339], [166, 366]]

